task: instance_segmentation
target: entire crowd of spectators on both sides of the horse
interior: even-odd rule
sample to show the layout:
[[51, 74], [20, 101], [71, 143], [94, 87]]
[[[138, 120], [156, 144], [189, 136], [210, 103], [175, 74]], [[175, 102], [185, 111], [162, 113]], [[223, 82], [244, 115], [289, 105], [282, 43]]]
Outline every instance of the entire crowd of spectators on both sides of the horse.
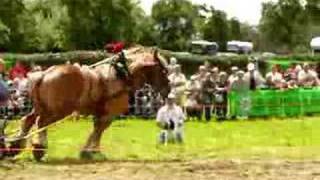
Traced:
[[[15, 115], [25, 115], [32, 108], [28, 97], [27, 74], [39, 71], [41, 67], [27, 68], [17, 62], [9, 71], [5, 69], [4, 61], [0, 59], [0, 78], [9, 87], [10, 99], [6, 106], [0, 106], [0, 116], [12, 118]], [[256, 63], [249, 63], [246, 69], [236, 66], [227, 72], [219, 67], [205, 63], [189, 79], [182, 73], [181, 65], [175, 58], [170, 59], [168, 66], [171, 93], [176, 97], [177, 105], [184, 108], [188, 119], [209, 121], [214, 115], [218, 120], [227, 116], [227, 96], [230, 91], [243, 97], [256, 89], [294, 89], [310, 88], [320, 85], [315, 66], [312, 64], [292, 64], [283, 70], [275, 65], [263, 76]], [[153, 91], [150, 85], [131, 94], [128, 115], [152, 118], [164, 104], [163, 97]]]

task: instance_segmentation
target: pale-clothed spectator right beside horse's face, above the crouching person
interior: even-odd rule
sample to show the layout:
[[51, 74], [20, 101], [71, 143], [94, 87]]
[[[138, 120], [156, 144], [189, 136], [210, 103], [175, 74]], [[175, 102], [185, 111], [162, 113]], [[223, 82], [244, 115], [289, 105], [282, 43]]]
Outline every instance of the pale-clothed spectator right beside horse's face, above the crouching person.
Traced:
[[177, 104], [182, 105], [187, 79], [181, 72], [180, 65], [175, 66], [174, 73], [171, 74], [168, 79], [170, 81], [171, 92], [176, 95]]

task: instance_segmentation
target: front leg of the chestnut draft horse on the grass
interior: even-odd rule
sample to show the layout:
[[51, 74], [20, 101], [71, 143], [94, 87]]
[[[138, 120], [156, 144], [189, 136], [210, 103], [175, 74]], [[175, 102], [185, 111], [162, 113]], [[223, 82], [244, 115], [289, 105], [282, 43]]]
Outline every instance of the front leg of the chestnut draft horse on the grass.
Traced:
[[92, 159], [96, 154], [102, 155], [100, 150], [101, 136], [111, 123], [112, 120], [107, 115], [95, 119], [93, 131], [80, 154], [82, 159]]

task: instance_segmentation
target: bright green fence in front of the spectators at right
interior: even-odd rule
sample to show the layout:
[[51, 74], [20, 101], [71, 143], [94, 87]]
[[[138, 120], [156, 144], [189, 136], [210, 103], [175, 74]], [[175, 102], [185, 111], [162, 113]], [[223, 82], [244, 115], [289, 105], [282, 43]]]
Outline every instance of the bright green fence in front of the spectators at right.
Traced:
[[300, 116], [320, 113], [320, 88], [258, 90], [247, 95], [229, 93], [229, 114], [251, 117]]

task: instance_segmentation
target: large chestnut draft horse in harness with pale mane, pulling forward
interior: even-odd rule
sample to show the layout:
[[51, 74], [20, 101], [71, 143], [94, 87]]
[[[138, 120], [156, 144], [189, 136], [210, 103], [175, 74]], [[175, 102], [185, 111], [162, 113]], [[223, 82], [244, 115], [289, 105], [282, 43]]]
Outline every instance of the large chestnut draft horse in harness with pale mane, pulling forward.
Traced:
[[[77, 111], [94, 115], [93, 132], [81, 151], [81, 158], [90, 159], [100, 153], [102, 133], [112, 123], [112, 117], [127, 112], [129, 91], [150, 84], [162, 95], [169, 92], [167, 62], [157, 50], [130, 48], [113, 60], [96, 67], [60, 65], [31, 76], [31, 97], [34, 108], [22, 120], [18, 136], [11, 142], [7, 156], [15, 156], [26, 147], [25, 136], [36, 124], [47, 127]], [[39, 143], [33, 152], [41, 160], [47, 149], [47, 131], [39, 132]], [[36, 152], [36, 153], [35, 153]]]

